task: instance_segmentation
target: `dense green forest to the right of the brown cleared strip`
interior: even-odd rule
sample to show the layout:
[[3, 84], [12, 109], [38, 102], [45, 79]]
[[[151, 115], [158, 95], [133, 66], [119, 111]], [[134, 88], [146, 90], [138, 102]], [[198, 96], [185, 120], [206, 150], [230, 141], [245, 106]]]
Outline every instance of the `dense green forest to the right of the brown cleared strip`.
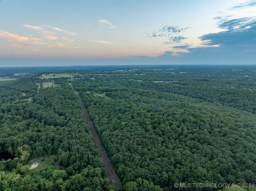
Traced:
[[[140, 178], [167, 190], [176, 182], [256, 182], [256, 117], [246, 109], [255, 106], [253, 79], [207, 70], [215, 77], [190, 68], [186, 75], [147, 72], [135, 81], [129, 75], [74, 81], [124, 190], [145, 189]], [[163, 79], [175, 82], [152, 83]]]

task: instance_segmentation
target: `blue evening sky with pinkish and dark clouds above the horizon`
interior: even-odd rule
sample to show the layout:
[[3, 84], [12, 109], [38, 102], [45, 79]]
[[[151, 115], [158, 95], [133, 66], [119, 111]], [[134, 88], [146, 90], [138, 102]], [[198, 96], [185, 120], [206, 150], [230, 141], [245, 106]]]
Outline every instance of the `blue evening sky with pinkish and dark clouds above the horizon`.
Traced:
[[256, 65], [256, 0], [0, 0], [0, 67]]

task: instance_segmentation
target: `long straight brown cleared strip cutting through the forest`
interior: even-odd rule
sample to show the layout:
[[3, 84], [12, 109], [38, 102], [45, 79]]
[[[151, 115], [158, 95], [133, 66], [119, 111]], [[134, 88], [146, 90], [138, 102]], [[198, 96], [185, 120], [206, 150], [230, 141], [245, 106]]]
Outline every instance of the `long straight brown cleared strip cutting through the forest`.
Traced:
[[83, 111], [84, 118], [86, 119], [88, 125], [90, 126], [90, 130], [91, 130], [92, 136], [93, 136], [93, 141], [97, 145], [97, 147], [100, 151], [100, 157], [103, 159], [103, 162], [104, 162], [104, 165], [105, 165], [105, 168], [107, 171], [107, 177], [108, 177], [110, 183], [114, 187], [116, 187], [117, 190], [119, 190], [121, 188], [122, 183], [121, 183], [120, 179], [118, 178], [118, 176], [116, 175], [116, 172], [114, 171], [114, 168], [113, 168], [112, 164], [110, 163], [110, 159], [108, 158], [106, 151], [104, 150], [102, 144], [100, 143], [100, 140], [98, 138], [96, 130], [92, 124], [92, 121], [90, 120], [90, 117], [89, 117], [89, 114], [88, 114], [86, 108], [84, 108], [84, 103], [82, 102], [82, 99], [81, 99], [79, 93], [77, 91], [74, 91], [74, 92], [76, 93], [76, 95], [78, 97], [78, 101], [79, 101], [80, 107]]

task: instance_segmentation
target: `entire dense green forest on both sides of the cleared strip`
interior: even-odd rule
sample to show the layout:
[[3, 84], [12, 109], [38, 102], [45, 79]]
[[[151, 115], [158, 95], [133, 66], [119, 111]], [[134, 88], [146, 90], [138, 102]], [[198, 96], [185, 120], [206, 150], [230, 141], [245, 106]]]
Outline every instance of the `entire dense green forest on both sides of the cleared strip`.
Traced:
[[[47, 78], [41, 69], [1, 81], [0, 146], [16, 158], [1, 161], [0, 190], [115, 190], [74, 87], [121, 190], [255, 191], [255, 72], [250, 66], [119, 66], [72, 68], [58, 72], [72, 77]], [[29, 169], [29, 160], [42, 156], [56, 158]]]

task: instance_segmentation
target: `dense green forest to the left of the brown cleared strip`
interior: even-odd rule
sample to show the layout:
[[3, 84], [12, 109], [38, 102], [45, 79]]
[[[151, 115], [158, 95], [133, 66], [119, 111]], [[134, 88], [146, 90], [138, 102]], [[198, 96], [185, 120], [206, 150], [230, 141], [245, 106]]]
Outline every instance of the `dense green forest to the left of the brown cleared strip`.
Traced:
[[[33, 77], [1, 86], [1, 150], [16, 158], [1, 161], [0, 190], [114, 189], [71, 86], [37, 89]], [[56, 159], [45, 168], [27, 165], [51, 155]]]

